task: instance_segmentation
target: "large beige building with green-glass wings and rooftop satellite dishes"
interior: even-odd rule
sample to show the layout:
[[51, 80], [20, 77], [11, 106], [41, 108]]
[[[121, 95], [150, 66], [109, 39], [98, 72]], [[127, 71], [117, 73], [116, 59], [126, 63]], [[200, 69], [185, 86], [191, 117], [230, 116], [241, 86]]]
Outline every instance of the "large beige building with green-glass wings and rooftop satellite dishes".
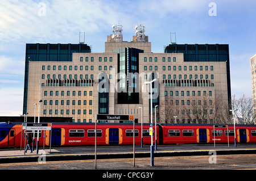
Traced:
[[[152, 84], [152, 111], [155, 106], [163, 110], [159, 119], [170, 115], [167, 104], [211, 104], [218, 97], [230, 104], [228, 45], [171, 44], [164, 53], [152, 53], [144, 26], [135, 28], [127, 42], [122, 26], [113, 26], [104, 53], [91, 53], [86, 44], [27, 44], [23, 113], [34, 113], [40, 81], [40, 116], [73, 117], [74, 122], [94, 122], [96, 114], [104, 113], [134, 115], [141, 123], [142, 107], [143, 123], [149, 123], [150, 85], [145, 82], [154, 78], [159, 82]], [[210, 117], [185, 116], [194, 114], [192, 108], [173, 109], [179, 123], [212, 122]]]

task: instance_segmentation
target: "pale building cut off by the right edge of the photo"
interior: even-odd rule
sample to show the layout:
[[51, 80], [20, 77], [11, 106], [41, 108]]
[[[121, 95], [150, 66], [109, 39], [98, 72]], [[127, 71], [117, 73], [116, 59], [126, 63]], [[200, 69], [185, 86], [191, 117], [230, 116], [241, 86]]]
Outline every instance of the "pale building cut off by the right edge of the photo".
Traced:
[[256, 54], [250, 58], [251, 86], [253, 89], [253, 112], [256, 113]]

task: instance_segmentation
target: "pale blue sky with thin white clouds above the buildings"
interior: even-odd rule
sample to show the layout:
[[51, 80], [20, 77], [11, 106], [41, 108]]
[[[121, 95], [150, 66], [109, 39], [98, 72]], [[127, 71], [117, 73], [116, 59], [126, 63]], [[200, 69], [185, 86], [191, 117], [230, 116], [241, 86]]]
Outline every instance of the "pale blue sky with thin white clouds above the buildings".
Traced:
[[113, 24], [123, 40], [144, 24], [152, 52], [177, 44], [229, 44], [232, 95], [250, 97], [250, 58], [256, 54], [255, 0], [1, 0], [0, 116], [23, 109], [26, 43], [85, 43], [104, 52]]

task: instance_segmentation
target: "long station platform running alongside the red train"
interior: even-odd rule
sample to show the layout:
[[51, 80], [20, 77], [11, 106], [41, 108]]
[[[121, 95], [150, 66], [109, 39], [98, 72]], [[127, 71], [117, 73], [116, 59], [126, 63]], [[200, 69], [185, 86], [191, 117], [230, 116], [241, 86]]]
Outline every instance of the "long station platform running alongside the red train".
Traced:
[[[195, 156], [211, 155], [212, 151], [217, 155], [230, 154], [256, 154], [256, 144], [238, 145], [160, 145], [154, 150], [154, 157], [177, 157], [177, 156]], [[49, 148], [39, 149], [30, 153], [30, 150], [24, 154], [24, 149], [0, 149], [1, 163], [19, 163], [19, 162], [38, 162], [40, 157], [46, 157], [47, 161], [70, 161], [70, 160], [88, 160], [94, 159], [94, 147], [69, 147], [69, 148]], [[150, 157], [150, 146], [135, 146], [135, 158]], [[133, 158], [133, 146], [98, 146], [97, 159], [117, 159]]]

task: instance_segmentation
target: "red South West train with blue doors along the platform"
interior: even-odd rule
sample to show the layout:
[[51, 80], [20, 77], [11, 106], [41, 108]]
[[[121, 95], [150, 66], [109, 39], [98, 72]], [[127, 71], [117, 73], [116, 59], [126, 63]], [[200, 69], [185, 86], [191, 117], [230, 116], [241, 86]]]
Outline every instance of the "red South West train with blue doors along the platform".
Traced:
[[[135, 144], [151, 144], [150, 124], [135, 124]], [[142, 130], [142, 131], [141, 131]], [[155, 142], [155, 125], [153, 136]], [[236, 133], [237, 143], [256, 143], [256, 125], [233, 125], [228, 128], [213, 128], [210, 124], [157, 124], [156, 140], [158, 144], [213, 144], [214, 134], [216, 144], [234, 143]], [[22, 124], [0, 123], [0, 148], [24, 147], [24, 130]], [[228, 136], [229, 135], [229, 136]], [[36, 141], [37, 133], [35, 133]], [[22, 139], [22, 141], [21, 141]], [[52, 123], [52, 146], [87, 146], [95, 144], [94, 123]], [[50, 131], [39, 132], [39, 146], [49, 146]], [[133, 124], [98, 123], [97, 145], [132, 145]]]

